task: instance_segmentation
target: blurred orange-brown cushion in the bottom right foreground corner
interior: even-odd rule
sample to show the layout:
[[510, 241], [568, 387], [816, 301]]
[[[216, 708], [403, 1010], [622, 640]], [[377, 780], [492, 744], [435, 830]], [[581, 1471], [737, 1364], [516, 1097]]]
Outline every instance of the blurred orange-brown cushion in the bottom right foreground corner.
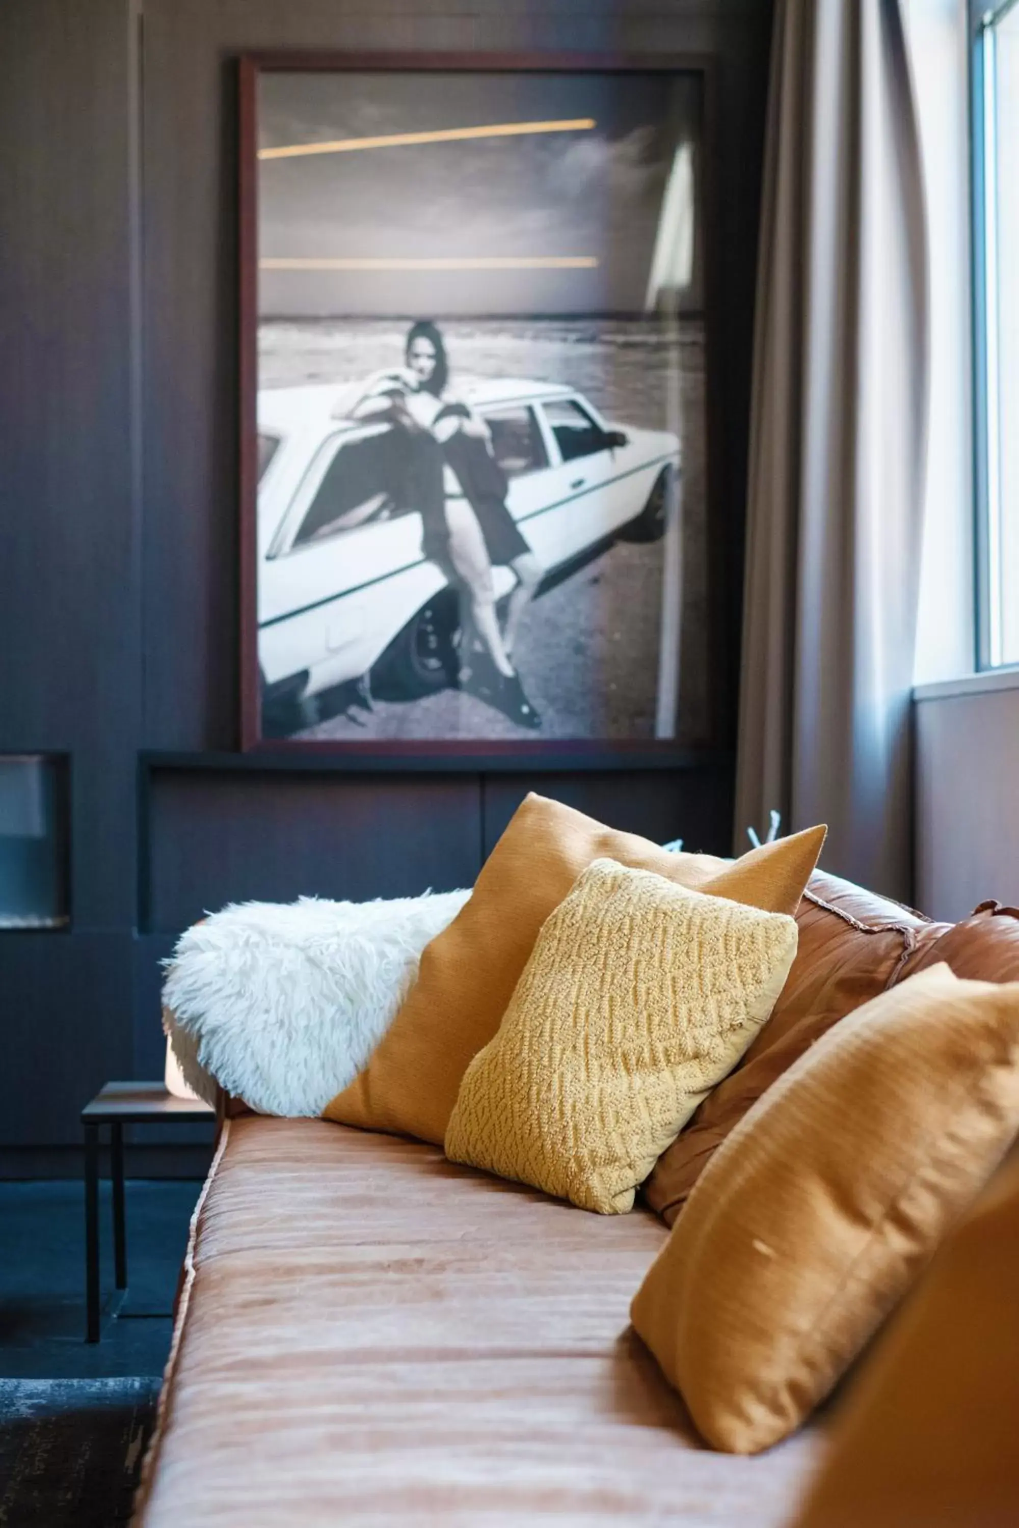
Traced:
[[882, 1335], [796, 1528], [1019, 1520], [1019, 1157]]

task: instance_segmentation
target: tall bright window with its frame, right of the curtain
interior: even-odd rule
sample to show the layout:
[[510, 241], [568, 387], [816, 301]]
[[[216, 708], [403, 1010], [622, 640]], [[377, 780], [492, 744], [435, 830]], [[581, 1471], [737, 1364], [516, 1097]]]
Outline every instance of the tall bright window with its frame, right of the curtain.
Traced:
[[1019, 0], [973, 40], [981, 668], [1019, 663]]

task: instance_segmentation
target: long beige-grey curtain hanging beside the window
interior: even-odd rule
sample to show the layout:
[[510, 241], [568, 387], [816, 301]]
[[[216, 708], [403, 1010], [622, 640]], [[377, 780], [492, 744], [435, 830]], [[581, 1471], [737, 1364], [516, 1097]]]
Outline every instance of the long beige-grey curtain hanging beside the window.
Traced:
[[927, 390], [920, 142], [897, 0], [778, 0], [758, 272], [736, 837], [911, 895]]

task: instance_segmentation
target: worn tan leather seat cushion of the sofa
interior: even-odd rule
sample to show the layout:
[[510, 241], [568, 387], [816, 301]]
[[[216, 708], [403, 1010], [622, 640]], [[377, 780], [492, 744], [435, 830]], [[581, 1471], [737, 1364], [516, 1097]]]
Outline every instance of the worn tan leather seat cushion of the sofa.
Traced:
[[137, 1528], [778, 1528], [811, 1435], [707, 1452], [628, 1326], [665, 1241], [432, 1146], [225, 1126]]

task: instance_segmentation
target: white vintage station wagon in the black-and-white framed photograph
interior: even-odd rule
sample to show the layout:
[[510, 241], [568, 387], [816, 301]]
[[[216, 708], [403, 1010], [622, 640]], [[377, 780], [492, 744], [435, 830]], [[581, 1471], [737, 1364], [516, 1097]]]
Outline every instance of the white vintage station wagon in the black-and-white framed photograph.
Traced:
[[[542, 588], [616, 538], [663, 535], [675, 435], [608, 425], [579, 393], [545, 382], [477, 382], [461, 394], [489, 426]], [[321, 385], [258, 394], [266, 730], [273, 714], [365, 675], [376, 694], [409, 698], [455, 672], [457, 593], [422, 555], [420, 515], [397, 506], [393, 426], [345, 419], [350, 399]], [[497, 567], [495, 587], [509, 593], [513, 573]]]

